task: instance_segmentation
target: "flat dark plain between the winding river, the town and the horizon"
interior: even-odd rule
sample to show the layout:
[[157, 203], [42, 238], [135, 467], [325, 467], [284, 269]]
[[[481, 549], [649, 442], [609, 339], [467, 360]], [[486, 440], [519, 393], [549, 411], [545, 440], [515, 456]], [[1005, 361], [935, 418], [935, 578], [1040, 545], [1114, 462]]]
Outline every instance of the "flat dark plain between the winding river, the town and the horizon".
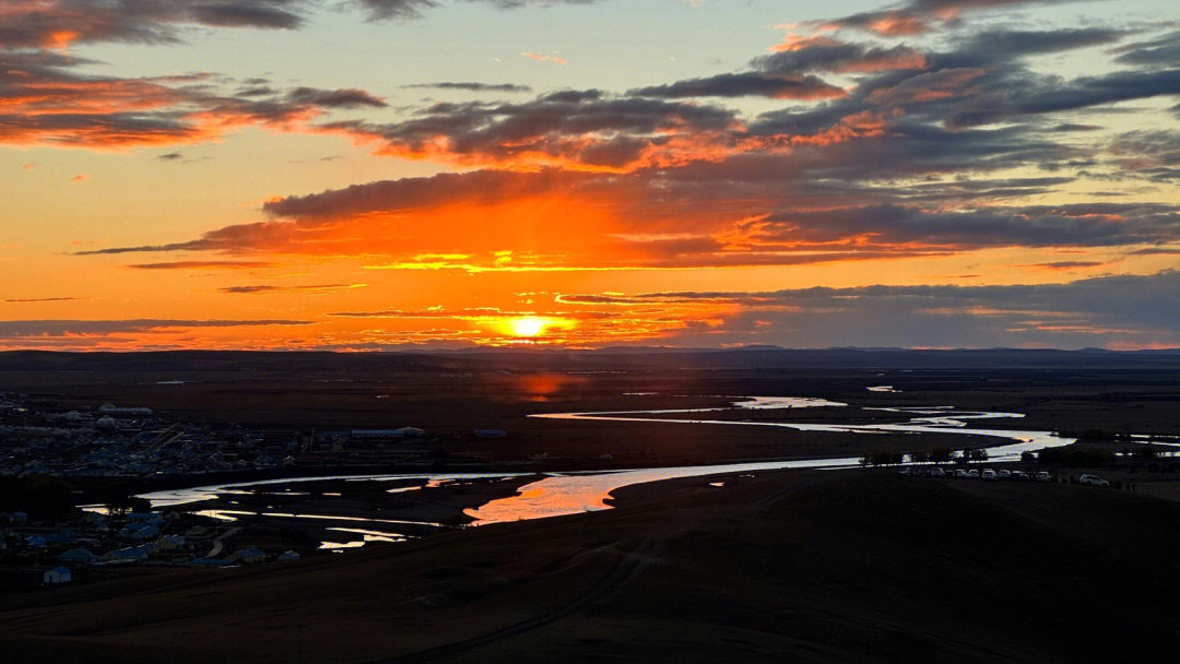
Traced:
[[[854, 456], [963, 445], [958, 438], [527, 418], [699, 408], [750, 395], [1027, 415], [992, 420], [988, 426], [995, 428], [1180, 432], [1180, 354], [1174, 353], [8, 353], [0, 355], [0, 381], [5, 392], [70, 407], [142, 405], [182, 421], [301, 432], [414, 426], [460, 459], [533, 459], [536, 469]], [[867, 390], [881, 384], [898, 392]], [[741, 415], [844, 423], [904, 419], [860, 408]], [[484, 428], [509, 435], [472, 435]]]

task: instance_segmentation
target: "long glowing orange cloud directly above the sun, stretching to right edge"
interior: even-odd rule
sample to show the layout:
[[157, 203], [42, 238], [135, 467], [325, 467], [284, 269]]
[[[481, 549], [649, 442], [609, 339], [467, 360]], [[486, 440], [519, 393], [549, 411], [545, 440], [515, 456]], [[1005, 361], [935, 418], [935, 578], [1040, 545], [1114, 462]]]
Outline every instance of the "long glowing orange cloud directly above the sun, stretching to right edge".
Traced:
[[[614, 176], [549, 169], [540, 172], [474, 171], [376, 182], [271, 200], [274, 218], [225, 226], [164, 246], [126, 246], [84, 254], [216, 251], [346, 254], [395, 258], [396, 269], [603, 269], [706, 265], [806, 264], [969, 252], [985, 248], [1127, 248], [1180, 241], [1180, 213], [1165, 204], [994, 204], [1010, 190], [1021, 196], [1056, 178], [1001, 180], [991, 189], [948, 185], [925, 190], [910, 204], [876, 203], [821, 209], [813, 200], [776, 192], [781, 180], [747, 184], [740, 205], [729, 180], [732, 164], [699, 179], [671, 180], [658, 171], [620, 182]], [[687, 173], [677, 172], [681, 178]], [[730, 171], [729, 177], [733, 177]], [[946, 198], [989, 203], [946, 209]], [[657, 203], [653, 199], [658, 198]], [[841, 196], [846, 200], [846, 196]], [[930, 203], [922, 203], [929, 200]], [[800, 209], [799, 205], [804, 208]], [[753, 208], [753, 209], [752, 209]], [[552, 225], [552, 210], [564, 223]], [[752, 213], [754, 212], [754, 213]], [[538, 218], [538, 213], [542, 216]], [[447, 234], [437, 232], [439, 224]], [[517, 252], [487, 251], [491, 237], [513, 239]], [[511, 252], [510, 252], [511, 254]], [[248, 262], [179, 262], [159, 268], [244, 267]]]

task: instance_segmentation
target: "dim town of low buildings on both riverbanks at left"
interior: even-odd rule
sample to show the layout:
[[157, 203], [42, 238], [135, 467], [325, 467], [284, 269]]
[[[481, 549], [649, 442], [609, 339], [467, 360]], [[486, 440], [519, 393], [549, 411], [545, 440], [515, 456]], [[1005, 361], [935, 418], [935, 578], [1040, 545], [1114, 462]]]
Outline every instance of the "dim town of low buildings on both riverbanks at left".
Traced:
[[[287, 466], [430, 465], [445, 454], [432, 447], [435, 442], [414, 427], [254, 430], [177, 422], [144, 407], [85, 407], [0, 394], [0, 498], [8, 509], [0, 512], [0, 572], [14, 570], [30, 585], [35, 576], [35, 585], [45, 585], [101, 576], [124, 565], [223, 567], [293, 560], [299, 553], [282, 545], [275, 548], [271, 543], [266, 551], [248, 546], [257, 534], [255, 526], [185, 512], [136, 512], [130, 501], [123, 508], [84, 511], [71, 505], [80, 499], [79, 486], [100, 491], [136, 478], [283, 473]], [[14, 498], [19, 487], [32, 491], [46, 481], [54, 491], [77, 494], [57, 497], [65, 501], [54, 512], [57, 520], [30, 518], [20, 509], [50, 512], [45, 505]], [[234, 546], [238, 540], [247, 546]]]

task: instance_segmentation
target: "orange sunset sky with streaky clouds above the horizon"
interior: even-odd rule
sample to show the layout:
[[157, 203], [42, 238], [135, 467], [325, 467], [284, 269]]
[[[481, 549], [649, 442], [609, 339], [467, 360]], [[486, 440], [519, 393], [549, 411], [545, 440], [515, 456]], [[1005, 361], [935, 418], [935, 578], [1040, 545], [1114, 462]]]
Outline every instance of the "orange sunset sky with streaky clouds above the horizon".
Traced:
[[0, 350], [1180, 347], [1180, 7], [2, 0]]

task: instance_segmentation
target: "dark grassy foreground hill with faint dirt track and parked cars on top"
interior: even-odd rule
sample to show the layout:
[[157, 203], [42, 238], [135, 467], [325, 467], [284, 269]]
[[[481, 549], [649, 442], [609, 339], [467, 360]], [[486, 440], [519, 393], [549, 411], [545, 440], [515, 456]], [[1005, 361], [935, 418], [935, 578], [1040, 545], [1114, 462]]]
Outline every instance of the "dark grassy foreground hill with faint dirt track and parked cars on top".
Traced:
[[13, 662], [1145, 662], [1180, 643], [1180, 505], [774, 473], [340, 558], [0, 601]]

